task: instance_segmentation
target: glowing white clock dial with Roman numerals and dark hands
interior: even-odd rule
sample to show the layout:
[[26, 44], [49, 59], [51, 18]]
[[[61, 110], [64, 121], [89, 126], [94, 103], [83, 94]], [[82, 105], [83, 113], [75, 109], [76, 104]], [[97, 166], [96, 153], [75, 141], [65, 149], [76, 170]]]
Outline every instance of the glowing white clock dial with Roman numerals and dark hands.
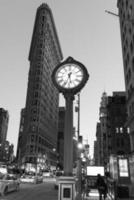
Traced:
[[82, 82], [83, 76], [81, 67], [72, 63], [62, 65], [55, 74], [57, 84], [65, 89], [77, 87]]

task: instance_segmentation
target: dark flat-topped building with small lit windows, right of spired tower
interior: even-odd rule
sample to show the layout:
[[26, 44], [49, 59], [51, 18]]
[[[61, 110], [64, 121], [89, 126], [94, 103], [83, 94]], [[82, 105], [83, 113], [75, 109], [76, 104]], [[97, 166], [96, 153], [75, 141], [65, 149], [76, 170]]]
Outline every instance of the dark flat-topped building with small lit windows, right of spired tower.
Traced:
[[108, 155], [130, 153], [130, 137], [125, 123], [127, 120], [126, 93], [113, 92], [107, 103]]

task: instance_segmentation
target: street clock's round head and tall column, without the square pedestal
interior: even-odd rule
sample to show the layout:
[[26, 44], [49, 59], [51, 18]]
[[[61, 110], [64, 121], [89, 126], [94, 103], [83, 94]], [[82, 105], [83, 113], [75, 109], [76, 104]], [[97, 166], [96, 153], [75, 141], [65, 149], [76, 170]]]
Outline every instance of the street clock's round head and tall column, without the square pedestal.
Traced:
[[73, 100], [74, 96], [85, 86], [89, 74], [85, 66], [68, 57], [55, 67], [52, 81], [66, 101], [64, 129], [64, 176], [73, 173]]

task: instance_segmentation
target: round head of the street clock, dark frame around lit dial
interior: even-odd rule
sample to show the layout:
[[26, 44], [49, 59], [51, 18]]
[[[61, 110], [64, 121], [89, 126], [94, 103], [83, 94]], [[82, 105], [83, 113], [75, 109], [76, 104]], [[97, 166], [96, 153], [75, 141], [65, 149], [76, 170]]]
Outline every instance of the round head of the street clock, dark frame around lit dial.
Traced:
[[52, 80], [59, 92], [76, 94], [86, 84], [89, 74], [85, 66], [68, 57], [57, 65], [52, 73]]

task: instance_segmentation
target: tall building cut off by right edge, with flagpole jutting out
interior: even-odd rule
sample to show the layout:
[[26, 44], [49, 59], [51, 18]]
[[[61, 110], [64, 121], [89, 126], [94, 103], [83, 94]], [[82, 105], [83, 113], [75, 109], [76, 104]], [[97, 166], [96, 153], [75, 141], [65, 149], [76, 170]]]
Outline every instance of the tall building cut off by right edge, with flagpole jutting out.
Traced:
[[134, 1], [118, 0], [131, 151], [134, 152]]

